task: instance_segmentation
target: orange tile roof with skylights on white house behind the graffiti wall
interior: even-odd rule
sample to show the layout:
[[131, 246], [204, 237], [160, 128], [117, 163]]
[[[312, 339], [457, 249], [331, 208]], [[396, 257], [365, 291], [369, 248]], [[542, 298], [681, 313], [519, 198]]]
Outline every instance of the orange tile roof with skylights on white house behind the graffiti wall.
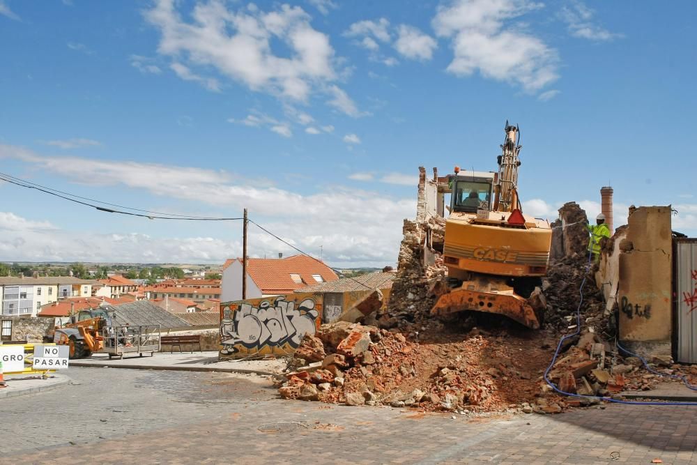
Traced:
[[[293, 255], [283, 259], [247, 259], [247, 273], [262, 294], [289, 294], [296, 289], [317, 284], [312, 275], [320, 275], [325, 282], [339, 279], [332, 268], [307, 255]], [[300, 275], [302, 283], [294, 282], [291, 274]]]

